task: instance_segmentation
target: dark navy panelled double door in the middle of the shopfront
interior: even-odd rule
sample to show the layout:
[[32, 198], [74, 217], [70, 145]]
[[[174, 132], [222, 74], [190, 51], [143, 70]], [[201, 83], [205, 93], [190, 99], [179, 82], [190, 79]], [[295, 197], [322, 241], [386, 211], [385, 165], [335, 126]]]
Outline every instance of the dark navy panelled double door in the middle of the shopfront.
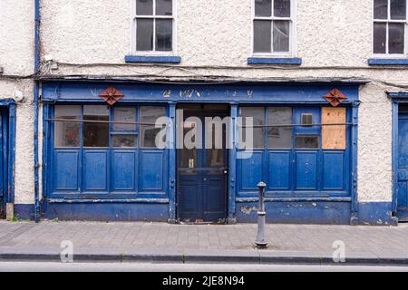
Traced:
[[[225, 113], [225, 112], [224, 112]], [[186, 111], [184, 120], [197, 117], [203, 124], [202, 144], [206, 144], [205, 117], [220, 114], [205, 111]], [[189, 124], [191, 125], [191, 124]], [[183, 137], [191, 127], [180, 128]], [[225, 128], [223, 140], [225, 141]], [[213, 140], [215, 140], [213, 138]], [[227, 177], [228, 152], [223, 149], [187, 149], [178, 150], [178, 213], [182, 221], [219, 222], [227, 213]]]

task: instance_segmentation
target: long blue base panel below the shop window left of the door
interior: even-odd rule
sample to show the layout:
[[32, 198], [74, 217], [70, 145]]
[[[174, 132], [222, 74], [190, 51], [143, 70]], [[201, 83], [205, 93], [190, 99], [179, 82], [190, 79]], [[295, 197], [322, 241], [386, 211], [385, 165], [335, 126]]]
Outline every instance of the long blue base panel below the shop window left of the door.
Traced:
[[167, 222], [169, 204], [48, 203], [42, 218], [84, 221]]

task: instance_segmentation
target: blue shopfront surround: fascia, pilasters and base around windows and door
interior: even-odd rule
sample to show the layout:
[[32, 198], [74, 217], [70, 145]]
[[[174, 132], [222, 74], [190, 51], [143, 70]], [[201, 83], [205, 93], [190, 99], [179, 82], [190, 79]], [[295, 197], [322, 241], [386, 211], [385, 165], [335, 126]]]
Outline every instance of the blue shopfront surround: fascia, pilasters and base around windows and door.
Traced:
[[[239, 196], [240, 179], [238, 177], [238, 151], [236, 150], [236, 140], [238, 138], [238, 108], [245, 105], [287, 105], [287, 106], [327, 106], [327, 102], [323, 96], [330, 92], [333, 88], [337, 88], [344, 92], [347, 100], [343, 103], [347, 107], [348, 121], [352, 122], [350, 127], [349, 138], [349, 169], [350, 174], [347, 179], [350, 179], [348, 184], [348, 196], [297, 196], [297, 197], [269, 197], [267, 201], [270, 203], [270, 208], [287, 207], [287, 202], [295, 205], [293, 208], [302, 208], [308, 205], [312, 210], [309, 212], [305, 208], [304, 217], [298, 218], [299, 222], [315, 222], [327, 220], [329, 223], [335, 223], [338, 218], [338, 223], [357, 223], [358, 221], [358, 205], [357, 205], [357, 132], [358, 132], [358, 98], [359, 98], [360, 83], [280, 83], [280, 84], [265, 84], [265, 83], [237, 83], [229, 84], [146, 84], [146, 83], [131, 83], [131, 82], [43, 82], [42, 100], [44, 102], [44, 120], [50, 117], [53, 105], [59, 104], [86, 104], [86, 103], [104, 103], [99, 98], [99, 92], [104, 91], [108, 86], [114, 86], [116, 89], [124, 93], [125, 97], [121, 100], [121, 105], [134, 105], [135, 103], [166, 103], [169, 109], [170, 119], [175, 123], [176, 106], [179, 103], [226, 103], [230, 106], [230, 117], [233, 122], [230, 134], [234, 140], [234, 150], [229, 150], [228, 155], [228, 222], [235, 223], [238, 215], [242, 216], [243, 206], [255, 205], [257, 198], [255, 196]], [[43, 147], [43, 189], [45, 197], [49, 197], [50, 192], [50, 164], [47, 160], [52, 153], [52, 126], [50, 122], [44, 121], [44, 139]], [[176, 128], [170, 130], [170, 148], [175, 148]], [[70, 217], [77, 215], [83, 217], [80, 210], [89, 210], [92, 213], [95, 210], [95, 215], [104, 215], [107, 211], [112, 211], [112, 208], [119, 208], [124, 204], [137, 206], [140, 204], [139, 212], [144, 216], [137, 216], [139, 219], [148, 218], [157, 220], [154, 217], [168, 218], [170, 222], [177, 221], [177, 160], [176, 150], [168, 150], [168, 189], [166, 189], [167, 198], [160, 200], [154, 197], [146, 196], [144, 198], [125, 199], [93, 199], [93, 200], [76, 200], [67, 198], [52, 198], [45, 200], [43, 204], [43, 212], [47, 207], [53, 208], [49, 212], [58, 214], [58, 210], [69, 210]], [[87, 205], [85, 206], [84, 203]], [[106, 206], [100, 207], [98, 204], [105, 203]], [[321, 206], [315, 205], [320, 203]], [[58, 207], [56, 206], [58, 204]], [[81, 204], [74, 206], [75, 204]], [[53, 206], [54, 205], [54, 206]], [[160, 206], [159, 212], [156, 209], [148, 209], [151, 205], [153, 208]], [[164, 208], [166, 207], [166, 208]], [[239, 208], [238, 208], [239, 207]], [[86, 208], [86, 209], [85, 209]], [[94, 208], [94, 209], [91, 209]], [[334, 208], [337, 215], [327, 218], [325, 208]], [[116, 210], [114, 209], [114, 210]], [[320, 213], [316, 214], [316, 210]], [[102, 212], [101, 212], [102, 211]], [[167, 214], [165, 214], [165, 211]], [[146, 213], [148, 212], [148, 214]], [[301, 214], [301, 212], [299, 211]], [[113, 214], [113, 213], [112, 213]], [[311, 215], [315, 215], [312, 217]], [[105, 215], [107, 216], [107, 215]], [[111, 215], [112, 216], [112, 215]], [[46, 218], [52, 218], [45, 215]], [[294, 216], [295, 217], [295, 216]], [[339, 218], [340, 217], [340, 218]], [[294, 220], [296, 222], [296, 219]]]

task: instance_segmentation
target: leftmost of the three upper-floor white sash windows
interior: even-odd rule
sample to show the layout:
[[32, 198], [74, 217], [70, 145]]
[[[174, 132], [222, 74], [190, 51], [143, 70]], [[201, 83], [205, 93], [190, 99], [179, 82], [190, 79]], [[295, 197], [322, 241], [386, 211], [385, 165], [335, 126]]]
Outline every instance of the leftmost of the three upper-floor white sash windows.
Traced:
[[172, 52], [175, 0], [133, 1], [133, 53]]

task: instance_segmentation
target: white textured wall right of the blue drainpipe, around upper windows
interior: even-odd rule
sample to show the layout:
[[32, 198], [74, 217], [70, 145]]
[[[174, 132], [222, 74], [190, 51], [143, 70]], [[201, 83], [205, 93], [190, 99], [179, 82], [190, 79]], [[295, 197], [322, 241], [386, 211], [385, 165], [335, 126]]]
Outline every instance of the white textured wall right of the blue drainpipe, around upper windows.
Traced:
[[358, 198], [390, 201], [392, 114], [385, 92], [403, 89], [382, 82], [406, 85], [408, 71], [367, 65], [372, 57], [372, 0], [297, 0], [295, 55], [303, 64], [284, 70], [247, 64], [252, 56], [251, 5], [252, 0], [177, 0], [175, 54], [182, 61], [169, 69], [125, 65], [124, 56], [131, 52], [131, 0], [42, 0], [42, 54], [59, 63], [52, 71], [56, 75], [370, 80], [360, 94]]

